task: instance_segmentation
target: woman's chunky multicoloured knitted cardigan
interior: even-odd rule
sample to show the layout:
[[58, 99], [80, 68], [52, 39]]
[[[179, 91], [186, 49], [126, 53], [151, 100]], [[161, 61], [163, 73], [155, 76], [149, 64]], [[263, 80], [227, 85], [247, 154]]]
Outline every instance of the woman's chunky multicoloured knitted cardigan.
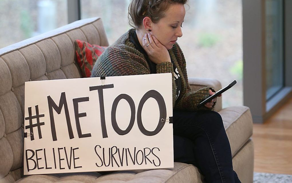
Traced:
[[[150, 68], [144, 55], [135, 49], [133, 43], [130, 42], [129, 37], [131, 31], [135, 31], [135, 29], [128, 30], [128, 32], [103, 52], [93, 67], [91, 77], [150, 74]], [[171, 62], [157, 64], [156, 72], [172, 73], [173, 109], [185, 111], [212, 109], [215, 105], [212, 108], [205, 106], [197, 108], [197, 105], [209, 97], [209, 89], [213, 92], [215, 90], [211, 87], [206, 87], [192, 92], [187, 79], [185, 57], [178, 43], [176, 42], [168, 52], [171, 57]], [[177, 100], [175, 100], [176, 84], [173, 74], [173, 64], [178, 68], [182, 83], [182, 91]]]

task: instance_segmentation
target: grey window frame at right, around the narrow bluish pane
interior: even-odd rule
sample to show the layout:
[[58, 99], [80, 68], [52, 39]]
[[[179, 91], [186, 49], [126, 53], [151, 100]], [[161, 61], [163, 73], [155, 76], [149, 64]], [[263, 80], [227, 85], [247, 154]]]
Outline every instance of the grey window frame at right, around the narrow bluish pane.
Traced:
[[[266, 100], [265, 71], [265, 0], [242, 0], [243, 8], [243, 80], [244, 105], [250, 107], [254, 123], [264, 123], [292, 96], [292, 31], [288, 9], [292, 2], [284, 0], [284, 88]], [[290, 21], [290, 22], [289, 22]]]

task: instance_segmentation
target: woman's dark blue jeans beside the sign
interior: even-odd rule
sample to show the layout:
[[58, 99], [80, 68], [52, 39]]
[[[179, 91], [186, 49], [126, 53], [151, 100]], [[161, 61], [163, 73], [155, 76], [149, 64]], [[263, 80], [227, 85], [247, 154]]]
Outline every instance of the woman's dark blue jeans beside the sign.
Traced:
[[173, 111], [174, 160], [199, 168], [206, 182], [240, 182], [219, 113]]

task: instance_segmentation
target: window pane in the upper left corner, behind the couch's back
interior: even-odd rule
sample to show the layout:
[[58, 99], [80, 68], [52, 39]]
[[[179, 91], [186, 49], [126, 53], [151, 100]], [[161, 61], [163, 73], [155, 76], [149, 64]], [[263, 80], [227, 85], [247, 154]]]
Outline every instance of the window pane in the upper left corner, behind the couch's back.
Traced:
[[0, 48], [66, 25], [65, 0], [0, 0]]

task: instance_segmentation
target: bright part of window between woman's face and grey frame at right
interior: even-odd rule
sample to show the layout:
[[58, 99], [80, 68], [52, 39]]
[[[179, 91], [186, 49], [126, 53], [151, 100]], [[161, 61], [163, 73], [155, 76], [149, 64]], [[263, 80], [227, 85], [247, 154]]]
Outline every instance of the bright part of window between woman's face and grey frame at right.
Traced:
[[187, 61], [188, 77], [215, 78], [222, 87], [223, 107], [243, 105], [241, 0], [191, 0], [178, 39]]

